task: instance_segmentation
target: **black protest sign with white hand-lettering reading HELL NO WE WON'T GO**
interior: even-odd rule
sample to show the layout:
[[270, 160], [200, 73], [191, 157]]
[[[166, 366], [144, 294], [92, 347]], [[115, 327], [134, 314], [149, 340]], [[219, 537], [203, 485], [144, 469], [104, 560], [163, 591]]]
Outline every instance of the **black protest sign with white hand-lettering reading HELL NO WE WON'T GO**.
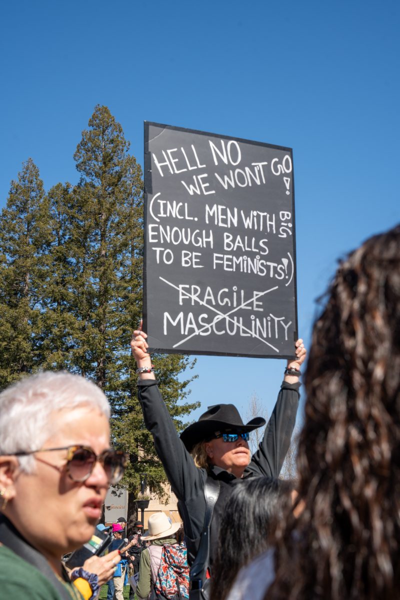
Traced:
[[290, 148], [145, 123], [143, 329], [152, 351], [290, 358]]

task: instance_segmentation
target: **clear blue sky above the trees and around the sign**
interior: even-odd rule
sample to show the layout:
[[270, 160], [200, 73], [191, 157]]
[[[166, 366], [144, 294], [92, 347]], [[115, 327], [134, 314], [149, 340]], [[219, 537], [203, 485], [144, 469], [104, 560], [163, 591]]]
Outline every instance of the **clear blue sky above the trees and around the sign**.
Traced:
[[[32, 157], [46, 190], [105, 104], [143, 166], [143, 121], [293, 148], [299, 332], [336, 259], [400, 220], [397, 1], [3, 2], [0, 206]], [[285, 361], [199, 357], [192, 398], [271, 410]], [[197, 416], [195, 414], [194, 416]]]

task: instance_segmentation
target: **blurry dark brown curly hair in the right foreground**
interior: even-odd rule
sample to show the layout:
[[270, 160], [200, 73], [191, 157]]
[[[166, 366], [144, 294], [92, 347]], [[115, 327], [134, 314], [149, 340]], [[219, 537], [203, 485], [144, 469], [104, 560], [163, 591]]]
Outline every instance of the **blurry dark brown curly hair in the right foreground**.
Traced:
[[296, 519], [265, 598], [400, 596], [400, 226], [344, 260], [314, 325]]

